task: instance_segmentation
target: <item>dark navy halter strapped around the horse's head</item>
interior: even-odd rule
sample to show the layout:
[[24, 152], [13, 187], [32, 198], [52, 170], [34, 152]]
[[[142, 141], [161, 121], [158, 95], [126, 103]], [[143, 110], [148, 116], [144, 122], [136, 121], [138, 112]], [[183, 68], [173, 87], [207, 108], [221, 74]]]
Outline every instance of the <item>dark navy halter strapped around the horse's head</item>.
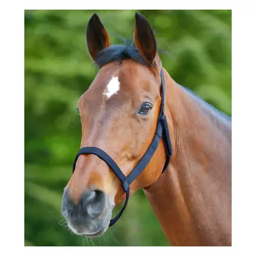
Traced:
[[143, 172], [143, 170], [149, 163], [150, 159], [154, 155], [154, 152], [156, 151], [162, 136], [163, 136], [163, 141], [164, 141], [164, 146], [166, 148], [166, 156], [167, 156], [162, 173], [166, 170], [170, 162], [170, 157], [172, 156], [172, 145], [170, 140], [170, 134], [168, 131], [168, 125], [166, 122], [166, 117], [164, 115], [164, 74], [162, 69], [161, 69], [160, 76], [161, 76], [162, 103], [161, 103], [161, 111], [159, 113], [158, 120], [157, 120], [156, 134], [152, 140], [152, 143], [150, 144], [147, 151], [145, 152], [144, 156], [140, 159], [138, 164], [134, 167], [132, 172], [127, 177], [125, 177], [124, 173], [120, 170], [120, 168], [115, 163], [115, 161], [100, 148], [84, 147], [84, 148], [81, 148], [76, 155], [76, 159], [73, 164], [73, 173], [74, 173], [74, 170], [76, 169], [76, 161], [80, 155], [94, 154], [100, 157], [100, 159], [102, 159], [103, 161], [105, 161], [108, 164], [108, 166], [113, 170], [113, 172], [118, 177], [118, 179], [120, 179], [120, 181], [122, 182], [122, 188], [126, 193], [125, 204], [122, 210], [117, 214], [117, 216], [110, 221], [109, 227], [113, 226], [116, 223], [116, 221], [120, 218], [122, 213], [124, 212], [129, 200], [129, 185], [140, 175], [141, 172]]

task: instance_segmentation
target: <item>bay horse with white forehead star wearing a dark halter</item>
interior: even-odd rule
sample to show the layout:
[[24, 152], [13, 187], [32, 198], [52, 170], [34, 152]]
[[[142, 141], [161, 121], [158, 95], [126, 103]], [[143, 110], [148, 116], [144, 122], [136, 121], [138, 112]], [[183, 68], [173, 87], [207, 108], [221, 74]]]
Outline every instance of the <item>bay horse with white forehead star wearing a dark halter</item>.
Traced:
[[172, 246], [232, 246], [231, 118], [176, 83], [150, 22], [138, 12], [135, 22], [124, 45], [110, 44], [97, 13], [88, 22], [99, 70], [77, 104], [81, 150], [61, 212], [75, 234], [101, 236], [143, 189]]

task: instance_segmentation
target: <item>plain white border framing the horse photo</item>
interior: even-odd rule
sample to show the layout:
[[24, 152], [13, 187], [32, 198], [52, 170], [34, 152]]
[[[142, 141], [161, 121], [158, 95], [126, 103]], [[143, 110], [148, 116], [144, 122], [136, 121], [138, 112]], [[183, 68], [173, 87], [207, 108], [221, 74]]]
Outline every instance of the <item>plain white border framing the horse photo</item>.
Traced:
[[[245, 1], [4, 1], [1, 3], [1, 255], [74, 253], [170, 253], [172, 255], [250, 255], [255, 251], [255, 8]], [[24, 247], [24, 9], [177, 10], [232, 9], [232, 247], [118, 248]], [[254, 110], [254, 111], [253, 111]], [[254, 115], [253, 115], [254, 114]], [[2, 250], [4, 252], [2, 253]], [[12, 251], [12, 252], [10, 252]], [[247, 253], [246, 253], [247, 254]]]

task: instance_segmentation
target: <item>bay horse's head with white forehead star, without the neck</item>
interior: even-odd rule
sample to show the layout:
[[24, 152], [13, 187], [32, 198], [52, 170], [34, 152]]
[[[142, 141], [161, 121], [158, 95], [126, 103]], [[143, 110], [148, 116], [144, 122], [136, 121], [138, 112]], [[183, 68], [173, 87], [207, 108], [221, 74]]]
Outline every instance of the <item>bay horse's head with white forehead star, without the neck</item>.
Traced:
[[140, 13], [136, 13], [134, 44], [111, 46], [108, 32], [96, 14], [88, 22], [86, 39], [92, 61], [100, 69], [78, 103], [81, 148], [107, 152], [122, 170], [120, 175], [127, 177], [147, 152], [154, 136], [157, 140], [156, 152], [128, 184], [129, 191], [125, 190], [122, 177], [99, 156], [84, 152], [77, 155], [74, 173], [63, 194], [62, 213], [73, 232], [95, 237], [109, 227], [116, 205], [161, 176], [166, 153], [156, 129], [164, 77], [154, 33]]

